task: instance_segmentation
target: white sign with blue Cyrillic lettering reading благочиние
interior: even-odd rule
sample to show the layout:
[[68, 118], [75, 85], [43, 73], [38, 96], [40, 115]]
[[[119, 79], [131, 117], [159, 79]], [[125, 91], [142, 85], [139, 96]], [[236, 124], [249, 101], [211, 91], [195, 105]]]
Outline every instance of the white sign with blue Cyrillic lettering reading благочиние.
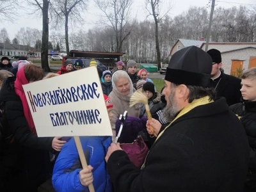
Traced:
[[38, 137], [112, 136], [96, 67], [23, 85]]

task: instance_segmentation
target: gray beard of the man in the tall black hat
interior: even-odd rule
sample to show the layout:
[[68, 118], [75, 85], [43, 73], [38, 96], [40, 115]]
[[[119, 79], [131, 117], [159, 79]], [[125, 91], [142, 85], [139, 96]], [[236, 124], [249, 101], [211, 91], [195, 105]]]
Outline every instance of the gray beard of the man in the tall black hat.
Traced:
[[174, 96], [175, 92], [172, 92], [167, 100], [166, 107], [163, 109], [163, 118], [166, 122], [172, 122], [177, 113], [180, 111], [177, 103], [175, 102]]

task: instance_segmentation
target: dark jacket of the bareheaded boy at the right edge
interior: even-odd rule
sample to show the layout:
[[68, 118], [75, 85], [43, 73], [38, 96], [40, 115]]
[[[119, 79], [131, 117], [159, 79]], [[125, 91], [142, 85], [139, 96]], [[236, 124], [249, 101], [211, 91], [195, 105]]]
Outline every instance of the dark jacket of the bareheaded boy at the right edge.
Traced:
[[246, 187], [256, 191], [256, 101], [245, 101], [230, 106], [239, 116], [250, 145], [250, 163], [246, 179]]

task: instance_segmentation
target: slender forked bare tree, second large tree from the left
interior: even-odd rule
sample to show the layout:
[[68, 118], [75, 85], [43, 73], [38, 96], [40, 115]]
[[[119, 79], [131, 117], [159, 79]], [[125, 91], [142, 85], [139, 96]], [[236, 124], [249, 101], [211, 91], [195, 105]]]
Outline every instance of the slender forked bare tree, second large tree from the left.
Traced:
[[56, 0], [52, 2], [52, 7], [54, 8], [54, 17], [56, 24], [65, 22], [65, 42], [66, 42], [66, 52], [69, 54], [69, 44], [68, 44], [68, 22], [82, 22], [83, 18], [81, 13], [86, 10], [87, 0]]

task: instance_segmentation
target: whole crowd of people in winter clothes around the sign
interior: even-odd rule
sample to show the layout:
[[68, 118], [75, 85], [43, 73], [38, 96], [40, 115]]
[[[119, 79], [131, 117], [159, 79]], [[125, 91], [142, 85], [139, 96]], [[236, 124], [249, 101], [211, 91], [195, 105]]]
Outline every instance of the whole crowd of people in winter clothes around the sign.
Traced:
[[[83, 70], [83, 60], [66, 60], [45, 76], [24, 58], [1, 58], [1, 191], [37, 191], [51, 177], [61, 192], [92, 184], [98, 192], [256, 191], [256, 68], [238, 79], [221, 72], [220, 51], [186, 47], [173, 54], [157, 92], [135, 60], [102, 71], [92, 59], [90, 67], [97, 67], [113, 136], [81, 137], [83, 168], [74, 138], [38, 138], [22, 88]], [[134, 92], [147, 97], [152, 119], [145, 104], [130, 107]], [[140, 138], [147, 150], [135, 145]], [[144, 156], [139, 166], [136, 152]]]

